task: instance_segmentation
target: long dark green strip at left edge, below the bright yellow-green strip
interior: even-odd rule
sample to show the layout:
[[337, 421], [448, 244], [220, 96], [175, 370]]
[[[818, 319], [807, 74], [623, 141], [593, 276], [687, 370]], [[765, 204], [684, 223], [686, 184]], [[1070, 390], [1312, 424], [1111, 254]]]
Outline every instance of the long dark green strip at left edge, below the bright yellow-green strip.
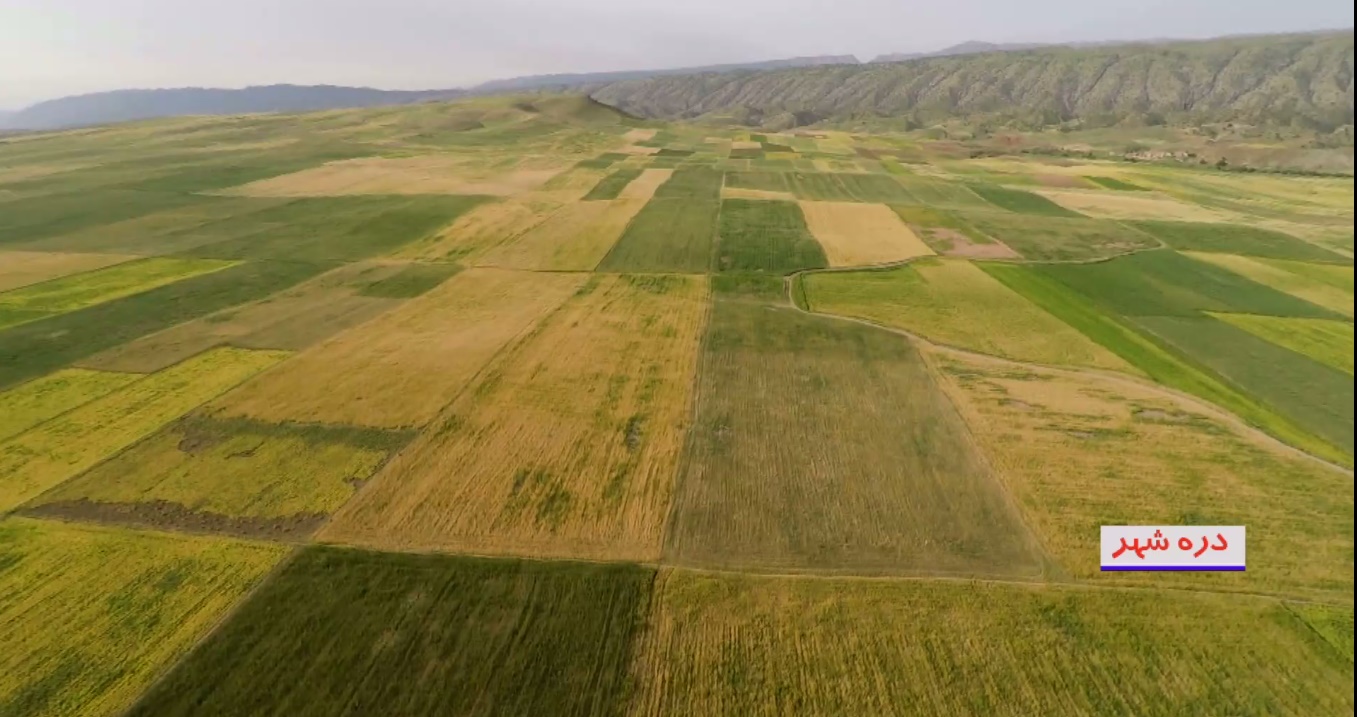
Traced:
[[328, 269], [246, 262], [80, 311], [0, 331], [0, 387], [223, 308], [262, 299]]

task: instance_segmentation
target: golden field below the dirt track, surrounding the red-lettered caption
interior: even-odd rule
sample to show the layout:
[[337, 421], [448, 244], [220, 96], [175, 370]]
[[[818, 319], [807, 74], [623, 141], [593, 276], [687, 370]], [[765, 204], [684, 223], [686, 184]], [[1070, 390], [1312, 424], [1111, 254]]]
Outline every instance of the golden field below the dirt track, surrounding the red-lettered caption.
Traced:
[[[1128, 379], [936, 353], [944, 387], [1072, 576], [1352, 599], [1352, 475]], [[1247, 526], [1247, 573], [1102, 573], [1098, 526]]]

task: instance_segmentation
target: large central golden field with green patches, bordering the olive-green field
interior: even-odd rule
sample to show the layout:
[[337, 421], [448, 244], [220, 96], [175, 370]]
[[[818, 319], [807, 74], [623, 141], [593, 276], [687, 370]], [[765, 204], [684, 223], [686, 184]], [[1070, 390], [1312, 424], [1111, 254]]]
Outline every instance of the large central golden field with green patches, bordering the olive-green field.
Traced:
[[703, 277], [593, 277], [320, 538], [658, 558], [706, 312]]

